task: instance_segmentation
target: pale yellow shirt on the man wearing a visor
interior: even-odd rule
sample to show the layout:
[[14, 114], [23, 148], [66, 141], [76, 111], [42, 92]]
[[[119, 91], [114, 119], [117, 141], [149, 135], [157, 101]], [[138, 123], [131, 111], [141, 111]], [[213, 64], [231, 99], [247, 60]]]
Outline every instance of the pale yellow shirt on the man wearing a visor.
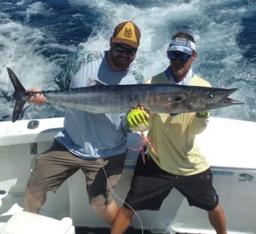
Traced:
[[[170, 83], [165, 73], [160, 73], [147, 83]], [[194, 75], [188, 85], [208, 86], [208, 81]], [[147, 134], [158, 155], [149, 152], [151, 158], [166, 172], [177, 176], [198, 174], [209, 168], [194, 142], [196, 134], [202, 132], [208, 117], [196, 117], [196, 113], [179, 115], [153, 114], [151, 128]]]

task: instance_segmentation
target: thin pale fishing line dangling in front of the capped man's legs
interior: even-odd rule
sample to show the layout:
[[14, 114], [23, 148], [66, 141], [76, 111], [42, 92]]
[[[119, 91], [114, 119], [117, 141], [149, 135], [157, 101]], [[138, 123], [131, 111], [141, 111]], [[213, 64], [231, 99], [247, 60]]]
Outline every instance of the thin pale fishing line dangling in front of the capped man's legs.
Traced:
[[[58, 97], [58, 99], [60, 100], [59, 97]], [[60, 102], [62, 102], [62, 100], [60, 100]], [[82, 132], [81, 132], [81, 128], [80, 128], [80, 125], [79, 125], [79, 123], [78, 123], [78, 121], [77, 121], [77, 118], [75, 117], [75, 114], [73, 113], [73, 111], [72, 111], [71, 109], [69, 109], [69, 108], [67, 108], [67, 107], [66, 107], [66, 109], [67, 109], [67, 111], [69, 111], [69, 112], [71, 113], [71, 115], [73, 115], [73, 117], [74, 117], [74, 119], [75, 119], [75, 122], [77, 123], [77, 126], [78, 126], [78, 128], [79, 128], [79, 132], [80, 132], [81, 138], [84, 140], [84, 142], [86, 142], [86, 139], [84, 138], [84, 135], [83, 135]], [[95, 156], [94, 156], [94, 157], [95, 157]], [[104, 172], [104, 174], [105, 174], [105, 178], [107, 179], [107, 184], [109, 185], [109, 189], [110, 189], [111, 193], [113, 193], [113, 195], [114, 195], [118, 200], [120, 200], [122, 203], [125, 203], [126, 206], [128, 206], [128, 207], [130, 208], [130, 210], [132, 210], [132, 211], [134, 212], [135, 216], [136, 216], [136, 217], [138, 218], [138, 220], [139, 220], [139, 223], [140, 223], [140, 225], [141, 225], [141, 233], [143, 234], [143, 233], [144, 233], [144, 232], [143, 232], [143, 223], [142, 223], [142, 221], [141, 221], [141, 218], [139, 217], [139, 214], [136, 212], [136, 210], [134, 210], [134, 209], [132, 208], [132, 206], [130, 206], [128, 203], [126, 203], [126, 201], [124, 201], [121, 197], [119, 197], [119, 196], [113, 191], [113, 189], [112, 189], [112, 187], [111, 187], [111, 184], [110, 184], [110, 182], [109, 182], [109, 178], [107, 177], [107, 172], [105, 171], [104, 165], [100, 162], [100, 160], [98, 159], [98, 157], [95, 157], [95, 158], [96, 158], [96, 160], [98, 161], [98, 163], [100, 164], [101, 168], [103, 169], [103, 172]], [[122, 176], [122, 174], [121, 174], [121, 176]]]

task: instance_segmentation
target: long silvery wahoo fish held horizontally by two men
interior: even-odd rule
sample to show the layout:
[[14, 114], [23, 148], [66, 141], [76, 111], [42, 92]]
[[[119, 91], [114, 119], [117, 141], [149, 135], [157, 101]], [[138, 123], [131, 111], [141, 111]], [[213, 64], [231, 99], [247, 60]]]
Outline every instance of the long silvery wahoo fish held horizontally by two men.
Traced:
[[[35, 92], [26, 92], [15, 73], [7, 68], [16, 100], [12, 121], [19, 118], [26, 100]], [[91, 113], [126, 113], [141, 104], [150, 113], [187, 113], [242, 104], [227, 98], [237, 89], [168, 84], [92, 85], [66, 92], [40, 92], [46, 103]], [[38, 93], [38, 92], [37, 92]]]

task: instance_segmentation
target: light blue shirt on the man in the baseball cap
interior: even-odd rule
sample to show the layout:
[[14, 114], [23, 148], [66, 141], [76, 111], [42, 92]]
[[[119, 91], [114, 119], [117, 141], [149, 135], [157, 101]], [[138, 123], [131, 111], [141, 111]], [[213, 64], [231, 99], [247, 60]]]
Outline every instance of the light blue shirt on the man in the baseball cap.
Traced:
[[[131, 64], [127, 71], [112, 71], [105, 57], [106, 52], [86, 52], [77, 58], [78, 70], [71, 79], [71, 88], [86, 87], [103, 83], [124, 85], [143, 83], [143, 75]], [[127, 110], [129, 111], [129, 110]], [[64, 130], [56, 135], [56, 140], [71, 153], [85, 158], [109, 157], [124, 153], [128, 125], [125, 113], [94, 114], [77, 109], [67, 109]]]

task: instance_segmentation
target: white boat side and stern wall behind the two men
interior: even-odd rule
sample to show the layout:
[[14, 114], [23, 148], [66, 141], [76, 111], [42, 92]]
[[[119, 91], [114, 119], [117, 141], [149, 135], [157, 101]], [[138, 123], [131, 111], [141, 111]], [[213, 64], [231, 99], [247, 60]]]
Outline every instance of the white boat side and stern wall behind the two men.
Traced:
[[[24, 208], [24, 189], [29, 178], [30, 163], [37, 153], [50, 147], [62, 118], [40, 119], [39, 126], [28, 129], [31, 121], [0, 122], [0, 230], [12, 214]], [[227, 216], [229, 234], [255, 234], [256, 210], [256, 123], [211, 117], [208, 128], [196, 141], [212, 165], [214, 184]], [[132, 134], [129, 144], [140, 139]], [[137, 153], [129, 151], [121, 181], [114, 188], [119, 205], [130, 187], [130, 178]], [[41, 209], [44, 216], [61, 219], [71, 217], [80, 233], [109, 233], [107, 225], [88, 205], [84, 176], [77, 172], [62, 184], [56, 194], [48, 193]], [[139, 218], [138, 218], [139, 217]], [[207, 215], [189, 207], [178, 191], [173, 190], [159, 212], [142, 211], [134, 216], [127, 233], [203, 233], [214, 234]], [[1, 233], [1, 231], [0, 231]], [[23, 233], [22, 233], [23, 234]]]

